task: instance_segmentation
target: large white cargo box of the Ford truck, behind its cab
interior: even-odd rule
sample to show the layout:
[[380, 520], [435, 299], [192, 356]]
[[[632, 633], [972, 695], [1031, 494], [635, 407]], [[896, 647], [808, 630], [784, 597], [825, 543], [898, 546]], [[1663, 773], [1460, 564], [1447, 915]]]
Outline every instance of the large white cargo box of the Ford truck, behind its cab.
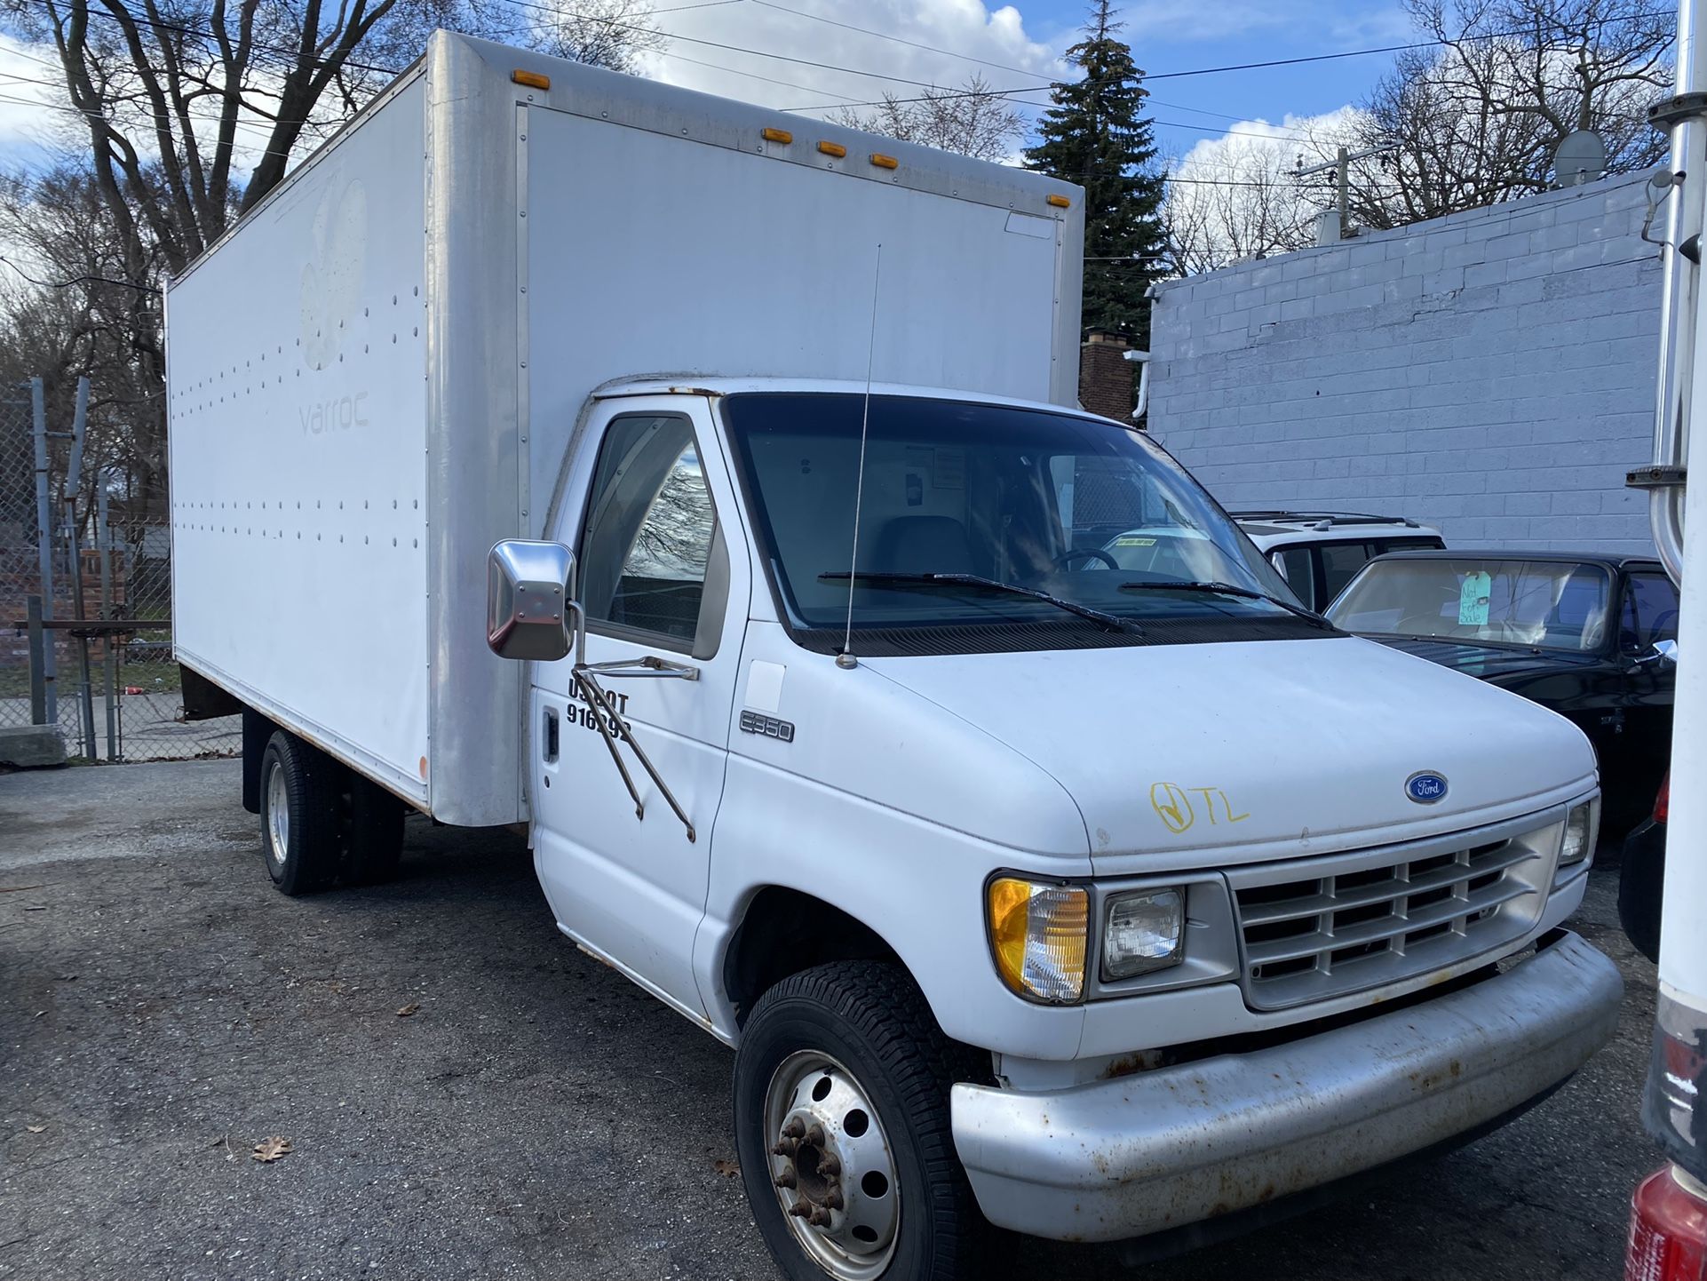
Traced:
[[524, 820], [485, 557], [546, 528], [589, 393], [871, 352], [1070, 405], [1079, 196], [435, 34], [171, 282], [179, 661], [444, 822]]

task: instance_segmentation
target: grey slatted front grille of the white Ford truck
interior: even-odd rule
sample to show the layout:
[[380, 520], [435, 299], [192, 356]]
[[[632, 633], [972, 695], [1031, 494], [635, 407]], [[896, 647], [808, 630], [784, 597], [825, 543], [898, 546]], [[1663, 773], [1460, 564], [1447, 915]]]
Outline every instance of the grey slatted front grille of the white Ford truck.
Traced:
[[1550, 845], [1529, 837], [1543, 832], [1229, 871], [1246, 1003], [1284, 1009], [1379, 987], [1519, 938], [1552, 874]]

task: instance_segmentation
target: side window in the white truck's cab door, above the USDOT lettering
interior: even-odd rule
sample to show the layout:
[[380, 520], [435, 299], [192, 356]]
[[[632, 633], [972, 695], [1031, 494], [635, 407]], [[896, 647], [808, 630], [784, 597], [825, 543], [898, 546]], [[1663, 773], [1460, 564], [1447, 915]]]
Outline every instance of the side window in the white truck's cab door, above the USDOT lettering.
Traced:
[[592, 632], [645, 637], [695, 658], [717, 652], [729, 562], [686, 418], [611, 422], [579, 560], [580, 603]]

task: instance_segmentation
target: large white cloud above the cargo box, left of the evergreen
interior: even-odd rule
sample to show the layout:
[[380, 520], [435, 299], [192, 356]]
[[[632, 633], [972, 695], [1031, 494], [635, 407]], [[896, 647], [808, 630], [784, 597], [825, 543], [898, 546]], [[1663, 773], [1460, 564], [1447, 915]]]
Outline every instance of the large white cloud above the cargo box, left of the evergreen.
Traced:
[[997, 89], [1029, 87], [1063, 73], [1058, 50], [1031, 38], [1012, 5], [992, 10], [982, 0], [869, 0], [852, 9], [831, 0], [748, 0], [671, 14], [664, 12], [669, 3], [657, 5], [657, 26], [674, 39], [662, 55], [642, 58], [645, 73], [763, 106], [833, 108], [881, 99], [884, 91], [906, 97], [920, 84], [954, 87], [975, 73]]

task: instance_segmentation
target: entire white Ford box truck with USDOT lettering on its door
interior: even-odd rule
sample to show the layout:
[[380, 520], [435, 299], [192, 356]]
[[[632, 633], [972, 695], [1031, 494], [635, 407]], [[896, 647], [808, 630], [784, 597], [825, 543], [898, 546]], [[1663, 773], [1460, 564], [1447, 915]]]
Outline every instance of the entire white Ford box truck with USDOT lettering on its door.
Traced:
[[439, 34], [169, 290], [178, 656], [273, 880], [526, 825], [734, 1047], [792, 1278], [1238, 1225], [1617, 1018], [1586, 740], [1075, 407], [1079, 202]]

